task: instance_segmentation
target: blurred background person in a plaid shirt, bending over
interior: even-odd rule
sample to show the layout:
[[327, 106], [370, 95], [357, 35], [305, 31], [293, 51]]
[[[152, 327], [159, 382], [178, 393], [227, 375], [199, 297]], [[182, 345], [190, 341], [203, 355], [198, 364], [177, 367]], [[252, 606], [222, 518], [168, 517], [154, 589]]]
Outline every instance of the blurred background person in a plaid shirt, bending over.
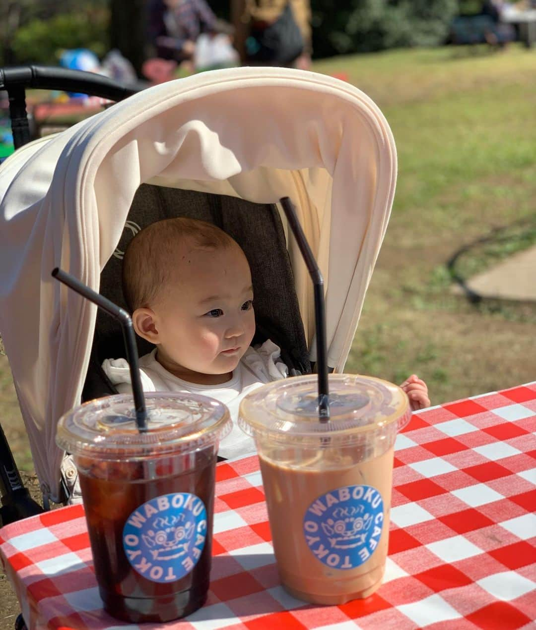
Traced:
[[148, 36], [160, 59], [190, 62], [201, 33], [214, 33], [218, 20], [206, 0], [151, 0]]

